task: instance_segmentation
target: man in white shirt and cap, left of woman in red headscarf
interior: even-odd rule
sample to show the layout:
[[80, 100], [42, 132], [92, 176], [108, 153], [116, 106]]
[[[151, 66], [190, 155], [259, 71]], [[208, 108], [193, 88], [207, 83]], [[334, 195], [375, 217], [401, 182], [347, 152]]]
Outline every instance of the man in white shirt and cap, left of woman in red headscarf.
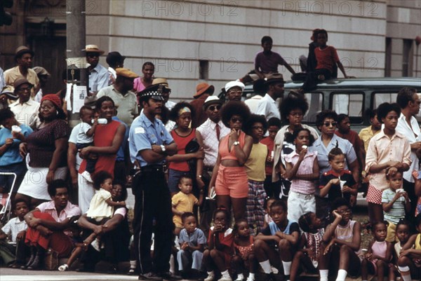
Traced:
[[10, 105], [11, 111], [19, 123], [25, 124], [31, 128], [36, 125], [39, 112], [39, 102], [31, 100], [31, 90], [34, 87], [26, 78], [19, 78], [13, 84], [14, 93], [19, 96], [19, 100]]

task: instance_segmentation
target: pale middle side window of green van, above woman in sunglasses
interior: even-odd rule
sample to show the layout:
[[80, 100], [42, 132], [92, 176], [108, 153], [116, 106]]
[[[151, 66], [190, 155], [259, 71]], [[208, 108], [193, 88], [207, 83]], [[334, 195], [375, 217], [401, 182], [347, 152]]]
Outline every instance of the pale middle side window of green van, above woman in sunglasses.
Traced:
[[337, 114], [347, 114], [354, 122], [362, 122], [363, 101], [363, 92], [333, 92], [330, 95], [330, 108]]

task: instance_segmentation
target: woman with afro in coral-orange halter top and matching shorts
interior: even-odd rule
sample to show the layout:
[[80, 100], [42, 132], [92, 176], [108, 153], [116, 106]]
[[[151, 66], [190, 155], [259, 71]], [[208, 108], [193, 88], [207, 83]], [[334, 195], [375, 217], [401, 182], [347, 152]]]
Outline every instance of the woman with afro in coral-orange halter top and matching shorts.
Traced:
[[[231, 132], [220, 141], [218, 158], [209, 186], [215, 187], [218, 206], [234, 211], [235, 220], [246, 214], [248, 179], [246, 163], [250, 156], [253, 138], [241, 130], [250, 118], [250, 109], [243, 102], [228, 102], [221, 109], [222, 123]], [[211, 190], [211, 189], [210, 189]]]

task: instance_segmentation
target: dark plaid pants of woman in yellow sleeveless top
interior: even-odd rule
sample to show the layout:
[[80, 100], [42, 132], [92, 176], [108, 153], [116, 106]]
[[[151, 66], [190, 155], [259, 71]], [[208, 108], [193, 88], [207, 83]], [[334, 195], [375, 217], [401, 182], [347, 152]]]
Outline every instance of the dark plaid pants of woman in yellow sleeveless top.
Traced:
[[265, 204], [266, 192], [264, 183], [265, 181], [248, 180], [246, 219], [252, 228], [256, 226], [257, 233], [260, 233], [265, 221], [265, 209], [263, 205]]

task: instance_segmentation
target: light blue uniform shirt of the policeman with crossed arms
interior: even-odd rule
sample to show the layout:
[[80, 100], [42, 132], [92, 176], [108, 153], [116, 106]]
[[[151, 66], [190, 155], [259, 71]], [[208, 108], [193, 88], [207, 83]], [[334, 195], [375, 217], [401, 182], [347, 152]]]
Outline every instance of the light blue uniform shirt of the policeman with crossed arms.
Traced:
[[133, 120], [129, 133], [129, 148], [130, 158], [132, 163], [138, 160], [141, 167], [145, 167], [148, 164], [162, 165], [165, 160], [159, 163], [147, 163], [142, 156], [140, 151], [145, 149], [152, 149], [152, 144], [157, 145], [168, 145], [174, 142], [173, 137], [166, 130], [161, 120], [158, 118], [154, 119], [152, 123], [143, 112]]

